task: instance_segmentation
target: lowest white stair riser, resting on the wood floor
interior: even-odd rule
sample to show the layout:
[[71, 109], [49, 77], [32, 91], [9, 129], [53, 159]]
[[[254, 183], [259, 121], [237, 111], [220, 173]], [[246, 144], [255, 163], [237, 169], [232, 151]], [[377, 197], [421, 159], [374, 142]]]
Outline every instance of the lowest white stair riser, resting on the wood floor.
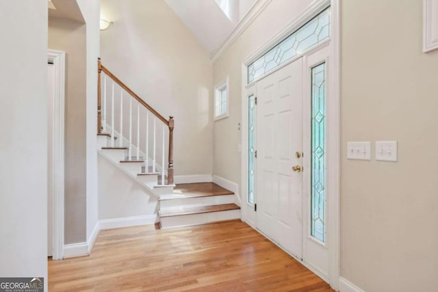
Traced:
[[181, 226], [201, 225], [212, 222], [240, 219], [240, 209], [227, 210], [210, 213], [198, 213], [190, 215], [179, 215], [170, 217], [160, 217], [159, 222], [162, 228], [173, 228]]

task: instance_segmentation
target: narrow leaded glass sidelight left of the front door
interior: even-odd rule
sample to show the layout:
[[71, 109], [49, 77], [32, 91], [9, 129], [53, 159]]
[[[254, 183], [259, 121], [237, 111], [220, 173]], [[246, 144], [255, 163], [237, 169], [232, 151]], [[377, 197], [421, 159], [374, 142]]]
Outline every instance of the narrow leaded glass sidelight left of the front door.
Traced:
[[255, 183], [255, 96], [249, 96], [248, 108], [248, 203], [254, 204]]

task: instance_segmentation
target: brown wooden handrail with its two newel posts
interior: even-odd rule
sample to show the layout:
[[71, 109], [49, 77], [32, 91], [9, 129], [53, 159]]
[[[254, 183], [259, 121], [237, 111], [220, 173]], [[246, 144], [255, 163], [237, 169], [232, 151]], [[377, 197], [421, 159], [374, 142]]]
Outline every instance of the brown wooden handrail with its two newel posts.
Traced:
[[[169, 152], [168, 152], [168, 185], [174, 184], [173, 179], [173, 129], [175, 127], [175, 120], [173, 120], [173, 117], [170, 116], [169, 120], [166, 120], [162, 115], [160, 115], [151, 105], [143, 101], [143, 99], [138, 96], [135, 92], [133, 92], [130, 88], [125, 85], [120, 79], [118, 79], [110, 70], [108, 70], [105, 66], [102, 65], [101, 58], [98, 58], [97, 61], [97, 133], [102, 132], [102, 120], [101, 120], [101, 72], [104, 72], [108, 77], [110, 77], [112, 80], [114, 80], [118, 85], [120, 85], [121, 88], [125, 90], [125, 92], [128, 92], [133, 98], [136, 98], [138, 103], [146, 107], [149, 111], [151, 111], [152, 114], [154, 114], [159, 120], [164, 122], [169, 127]], [[163, 142], [164, 143], [164, 142]], [[164, 167], [164, 165], [163, 165]], [[164, 181], [164, 178], [162, 178]]]

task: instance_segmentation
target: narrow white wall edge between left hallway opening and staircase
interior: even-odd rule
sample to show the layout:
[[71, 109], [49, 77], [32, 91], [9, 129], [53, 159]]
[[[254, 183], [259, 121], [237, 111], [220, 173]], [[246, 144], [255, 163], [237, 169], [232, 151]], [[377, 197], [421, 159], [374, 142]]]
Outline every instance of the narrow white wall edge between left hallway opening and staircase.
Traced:
[[100, 53], [100, 0], [77, 0], [86, 21], [86, 228], [87, 241], [98, 224], [97, 57]]

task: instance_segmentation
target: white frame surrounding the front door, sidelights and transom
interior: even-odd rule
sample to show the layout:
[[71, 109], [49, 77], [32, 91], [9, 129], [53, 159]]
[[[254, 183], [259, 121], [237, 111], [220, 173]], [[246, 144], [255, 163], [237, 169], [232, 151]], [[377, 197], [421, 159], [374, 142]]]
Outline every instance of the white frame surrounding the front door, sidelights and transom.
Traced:
[[[257, 81], [266, 75], [263, 75], [254, 81], [247, 82], [248, 66], [252, 64], [256, 59], [261, 57], [269, 49], [281, 42], [284, 38], [292, 34], [299, 27], [307, 23], [319, 12], [326, 7], [331, 6], [331, 36], [328, 40], [320, 42], [312, 49], [309, 49], [305, 54], [296, 55], [285, 64], [275, 68], [272, 72], [287, 66], [294, 62], [294, 60], [307, 55], [314, 51], [318, 51], [322, 47], [330, 47], [330, 59], [331, 66], [327, 73], [328, 78], [331, 80], [329, 83], [329, 90], [331, 94], [331, 101], [326, 105], [326, 131], [329, 133], [326, 135], [326, 147], [327, 147], [327, 176], [326, 176], [326, 192], [329, 194], [329, 199], [326, 203], [326, 208], [331, 215], [330, 220], [327, 222], [327, 229], [329, 233], [327, 235], [327, 245], [329, 248], [329, 284], [337, 291], [339, 287], [339, 274], [340, 274], [340, 57], [339, 57], [339, 0], [318, 0], [311, 3], [300, 15], [298, 15], [289, 25], [281, 29], [278, 34], [274, 35], [263, 46], [261, 46], [255, 53], [249, 55], [242, 62], [242, 151], [241, 163], [242, 163], [242, 221], [248, 225], [256, 228], [255, 211], [252, 204], [248, 204], [248, 96], [250, 94], [256, 94], [257, 96]], [[269, 73], [272, 73], [269, 72]], [[255, 194], [255, 200], [257, 202], [257, 194]], [[303, 226], [303, 228], [306, 228]], [[320, 274], [318, 270], [308, 266], [305, 262], [301, 261], [303, 265], [311, 269], [315, 274]], [[320, 275], [318, 275], [320, 276]], [[324, 277], [325, 278], [325, 277]]]

